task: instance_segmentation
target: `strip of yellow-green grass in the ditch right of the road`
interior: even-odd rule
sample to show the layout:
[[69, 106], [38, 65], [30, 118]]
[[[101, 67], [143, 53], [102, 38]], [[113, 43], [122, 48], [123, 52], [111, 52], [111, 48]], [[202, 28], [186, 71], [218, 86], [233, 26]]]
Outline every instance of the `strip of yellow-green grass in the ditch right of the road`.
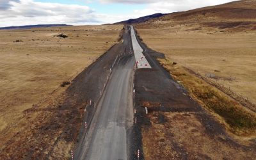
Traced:
[[198, 100], [202, 106], [216, 113], [216, 116], [220, 116], [220, 122], [224, 120], [230, 131], [243, 136], [255, 135], [256, 114], [253, 111], [244, 108], [179, 65], [172, 65], [173, 62], [168, 60], [159, 59], [159, 61], [191, 93], [192, 97]]

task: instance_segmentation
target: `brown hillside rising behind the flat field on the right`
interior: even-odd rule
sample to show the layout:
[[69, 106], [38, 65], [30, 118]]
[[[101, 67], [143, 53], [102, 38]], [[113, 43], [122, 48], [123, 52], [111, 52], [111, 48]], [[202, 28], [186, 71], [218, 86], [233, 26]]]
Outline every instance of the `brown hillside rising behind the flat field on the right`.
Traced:
[[148, 20], [149, 27], [167, 27], [170, 24], [199, 24], [218, 29], [256, 30], [256, 0], [234, 1], [187, 12], [175, 12]]

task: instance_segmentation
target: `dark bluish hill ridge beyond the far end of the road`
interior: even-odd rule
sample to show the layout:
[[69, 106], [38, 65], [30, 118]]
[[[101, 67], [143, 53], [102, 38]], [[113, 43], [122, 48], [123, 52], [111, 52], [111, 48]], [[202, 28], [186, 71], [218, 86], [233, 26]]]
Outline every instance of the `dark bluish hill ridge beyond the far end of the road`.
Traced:
[[153, 14], [153, 15], [147, 15], [147, 16], [144, 16], [144, 17], [140, 17], [138, 19], [129, 19], [129, 20], [124, 20], [122, 22], [116, 22], [115, 24], [138, 24], [138, 23], [146, 22], [146, 21], [151, 20], [151, 19], [162, 17], [164, 15], [166, 15], [166, 14], [156, 13], [156, 14]]

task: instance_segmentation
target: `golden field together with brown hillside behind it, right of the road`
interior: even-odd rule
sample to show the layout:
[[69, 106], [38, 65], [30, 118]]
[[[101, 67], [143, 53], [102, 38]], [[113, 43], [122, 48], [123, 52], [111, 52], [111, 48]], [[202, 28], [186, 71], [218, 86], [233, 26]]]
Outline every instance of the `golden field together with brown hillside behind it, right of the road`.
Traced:
[[137, 28], [143, 41], [256, 104], [256, 1], [171, 13]]

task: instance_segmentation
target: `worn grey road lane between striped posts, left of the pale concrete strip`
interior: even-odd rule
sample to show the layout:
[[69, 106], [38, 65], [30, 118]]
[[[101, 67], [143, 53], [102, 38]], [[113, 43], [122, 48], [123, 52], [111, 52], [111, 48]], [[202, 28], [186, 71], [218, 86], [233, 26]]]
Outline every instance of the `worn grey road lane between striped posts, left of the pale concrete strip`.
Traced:
[[127, 159], [131, 143], [133, 113], [133, 77], [135, 59], [131, 36], [124, 33], [123, 51], [113, 68], [88, 131], [79, 141], [74, 159]]

